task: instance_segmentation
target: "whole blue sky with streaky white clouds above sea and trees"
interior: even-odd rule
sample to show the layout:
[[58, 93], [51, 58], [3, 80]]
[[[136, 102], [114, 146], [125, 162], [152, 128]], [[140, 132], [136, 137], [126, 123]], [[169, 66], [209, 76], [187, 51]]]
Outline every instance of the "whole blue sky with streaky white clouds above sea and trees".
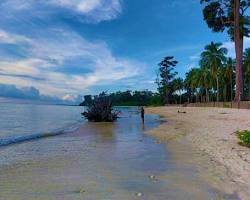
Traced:
[[[155, 90], [157, 64], [196, 67], [212, 33], [199, 0], [1, 0], [0, 96], [78, 102], [101, 91]], [[245, 40], [245, 47], [250, 41]]]

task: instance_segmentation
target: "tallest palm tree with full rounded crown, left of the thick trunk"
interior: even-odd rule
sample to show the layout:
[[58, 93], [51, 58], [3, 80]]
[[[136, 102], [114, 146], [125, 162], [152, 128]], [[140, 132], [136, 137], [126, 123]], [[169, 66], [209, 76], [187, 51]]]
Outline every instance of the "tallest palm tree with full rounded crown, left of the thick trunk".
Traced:
[[209, 45], [205, 46], [205, 51], [201, 53], [201, 65], [208, 66], [211, 70], [213, 78], [216, 80], [216, 89], [217, 89], [217, 102], [219, 101], [219, 72], [220, 68], [223, 65], [223, 62], [226, 61], [227, 49], [222, 47], [221, 43], [211, 42]]

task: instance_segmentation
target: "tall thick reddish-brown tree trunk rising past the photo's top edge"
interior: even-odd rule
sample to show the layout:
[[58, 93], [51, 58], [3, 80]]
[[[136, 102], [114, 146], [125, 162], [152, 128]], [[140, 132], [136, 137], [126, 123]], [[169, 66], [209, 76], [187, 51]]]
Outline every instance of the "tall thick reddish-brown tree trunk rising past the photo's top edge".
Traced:
[[240, 30], [240, 0], [234, 0], [234, 41], [236, 52], [236, 92], [235, 101], [239, 102], [243, 92], [242, 80], [242, 56], [243, 56], [243, 34]]

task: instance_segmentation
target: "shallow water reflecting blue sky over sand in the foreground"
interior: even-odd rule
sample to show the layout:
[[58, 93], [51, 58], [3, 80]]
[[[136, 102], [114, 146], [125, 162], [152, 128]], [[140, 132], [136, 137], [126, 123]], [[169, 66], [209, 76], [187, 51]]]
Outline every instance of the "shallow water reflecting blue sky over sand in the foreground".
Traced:
[[113, 124], [85, 123], [73, 133], [0, 148], [0, 199], [237, 199], [144, 135], [159, 123], [146, 115], [143, 126], [132, 108]]

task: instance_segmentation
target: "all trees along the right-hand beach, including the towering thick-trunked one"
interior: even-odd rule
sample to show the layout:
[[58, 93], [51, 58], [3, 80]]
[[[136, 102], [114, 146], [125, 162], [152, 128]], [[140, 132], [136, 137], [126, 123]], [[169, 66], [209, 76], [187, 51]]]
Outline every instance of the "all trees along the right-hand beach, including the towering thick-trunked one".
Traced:
[[199, 67], [175, 78], [174, 57], [159, 64], [156, 83], [162, 103], [250, 100], [250, 50], [243, 52], [244, 38], [250, 37], [250, 0], [200, 0], [203, 17], [213, 32], [227, 31], [235, 44], [236, 59], [226, 57], [221, 43], [207, 45], [201, 53]]

